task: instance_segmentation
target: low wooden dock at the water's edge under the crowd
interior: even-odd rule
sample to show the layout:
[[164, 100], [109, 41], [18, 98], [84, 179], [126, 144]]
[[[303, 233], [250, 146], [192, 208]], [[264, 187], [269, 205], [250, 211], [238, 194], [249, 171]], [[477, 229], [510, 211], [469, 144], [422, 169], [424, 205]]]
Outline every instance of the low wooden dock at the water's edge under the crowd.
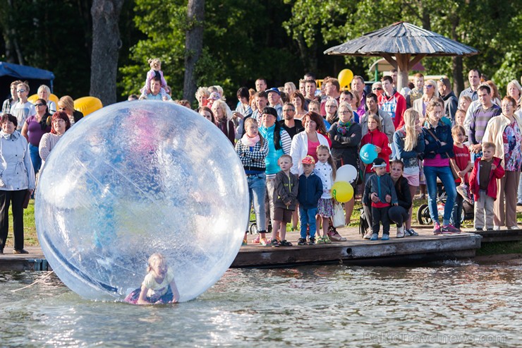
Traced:
[[[432, 234], [432, 227], [415, 227], [415, 237], [395, 238], [391, 228], [389, 241], [368, 241], [360, 238], [358, 229], [342, 228], [339, 233], [347, 241], [315, 246], [297, 246], [298, 232], [288, 232], [291, 247], [272, 248], [252, 244], [255, 235], [249, 235], [248, 246], [242, 246], [232, 268], [276, 268], [312, 263], [345, 263], [353, 265], [396, 265], [422, 263], [431, 260], [473, 258], [482, 243], [494, 241], [521, 241], [522, 229], [484, 232], [464, 232], [456, 235]], [[267, 235], [269, 237], [269, 235]], [[0, 271], [50, 270], [39, 246], [30, 246], [25, 255], [13, 255], [6, 246], [0, 255]]]

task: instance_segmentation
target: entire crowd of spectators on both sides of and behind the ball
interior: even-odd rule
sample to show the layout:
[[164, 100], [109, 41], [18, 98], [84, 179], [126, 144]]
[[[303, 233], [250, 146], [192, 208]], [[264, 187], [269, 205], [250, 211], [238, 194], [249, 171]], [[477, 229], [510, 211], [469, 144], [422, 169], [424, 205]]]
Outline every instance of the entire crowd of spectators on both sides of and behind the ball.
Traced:
[[[171, 99], [161, 62], [150, 60], [150, 66], [140, 97], [130, 95], [128, 100], [172, 101], [190, 108], [187, 100]], [[297, 86], [288, 82], [280, 88], [268, 88], [258, 78], [255, 89], [239, 88], [232, 103], [218, 85], [198, 88], [196, 111], [219, 127], [243, 164], [258, 232], [253, 244], [291, 246], [287, 224], [300, 232], [298, 245], [346, 241], [333, 218], [341, 210], [344, 224], [350, 224], [359, 197], [369, 226], [365, 239], [379, 239], [381, 226], [382, 240], [389, 239], [391, 223], [397, 238], [417, 236], [411, 220], [418, 191], [420, 199], [427, 198], [434, 234], [460, 233], [463, 202], [473, 200], [476, 230], [518, 229], [521, 85], [512, 80], [501, 97], [493, 81], [484, 81], [477, 69], [469, 71], [468, 81], [469, 88], [457, 98], [448, 78], [425, 80], [421, 73], [401, 90], [396, 71], [371, 89], [361, 76], [353, 76], [347, 90], [332, 77], [318, 83], [312, 73]], [[37, 94], [34, 104], [28, 102], [29, 86], [17, 80], [2, 105], [0, 253], [10, 205], [13, 253], [27, 253], [23, 205], [49, 152], [83, 117], [71, 97], [61, 97], [56, 105], [45, 85]], [[367, 144], [377, 158], [363, 164], [359, 150]], [[332, 186], [336, 169], [346, 164], [358, 172], [351, 183], [356, 194], [341, 206]], [[441, 191], [446, 197], [442, 219], [437, 210]], [[243, 245], [248, 244], [249, 225]]]

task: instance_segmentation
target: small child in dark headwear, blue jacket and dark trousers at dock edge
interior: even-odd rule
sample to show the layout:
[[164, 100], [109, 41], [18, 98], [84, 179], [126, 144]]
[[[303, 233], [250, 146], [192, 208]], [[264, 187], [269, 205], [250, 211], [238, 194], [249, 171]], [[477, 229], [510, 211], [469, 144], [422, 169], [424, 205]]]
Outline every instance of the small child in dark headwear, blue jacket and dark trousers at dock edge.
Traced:
[[380, 157], [373, 160], [372, 169], [375, 170], [375, 175], [370, 176], [364, 188], [363, 205], [372, 207], [370, 241], [379, 239], [380, 223], [382, 223], [382, 240], [389, 240], [388, 210], [390, 205], [398, 205], [394, 181], [386, 173], [386, 165], [386, 162]]

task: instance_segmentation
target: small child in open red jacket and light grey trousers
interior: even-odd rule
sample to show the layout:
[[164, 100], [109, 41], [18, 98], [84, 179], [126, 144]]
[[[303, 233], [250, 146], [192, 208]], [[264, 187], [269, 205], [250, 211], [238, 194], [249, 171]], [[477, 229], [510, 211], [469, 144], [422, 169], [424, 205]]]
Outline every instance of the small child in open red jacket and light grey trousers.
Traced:
[[[493, 229], [493, 203], [497, 199], [497, 179], [504, 176], [504, 168], [498, 157], [494, 157], [494, 143], [482, 143], [482, 157], [475, 160], [469, 177], [470, 191], [475, 195], [476, 231]], [[485, 220], [485, 221], [484, 221]]]

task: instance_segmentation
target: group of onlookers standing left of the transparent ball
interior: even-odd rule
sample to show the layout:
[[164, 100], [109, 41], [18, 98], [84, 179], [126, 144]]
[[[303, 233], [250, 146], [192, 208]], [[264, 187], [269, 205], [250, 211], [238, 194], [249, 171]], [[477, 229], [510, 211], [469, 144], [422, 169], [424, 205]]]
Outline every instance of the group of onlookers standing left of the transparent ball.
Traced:
[[51, 90], [40, 85], [34, 104], [28, 101], [29, 85], [11, 83], [11, 96], [2, 104], [0, 131], [0, 253], [8, 236], [9, 207], [13, 212], [13, 253], [24, 248], [23, 209], [34, 198], [37, 178], [49, 152], [68, 128], [83, 118], [65, 95], [58, 105], [49, 100]]

